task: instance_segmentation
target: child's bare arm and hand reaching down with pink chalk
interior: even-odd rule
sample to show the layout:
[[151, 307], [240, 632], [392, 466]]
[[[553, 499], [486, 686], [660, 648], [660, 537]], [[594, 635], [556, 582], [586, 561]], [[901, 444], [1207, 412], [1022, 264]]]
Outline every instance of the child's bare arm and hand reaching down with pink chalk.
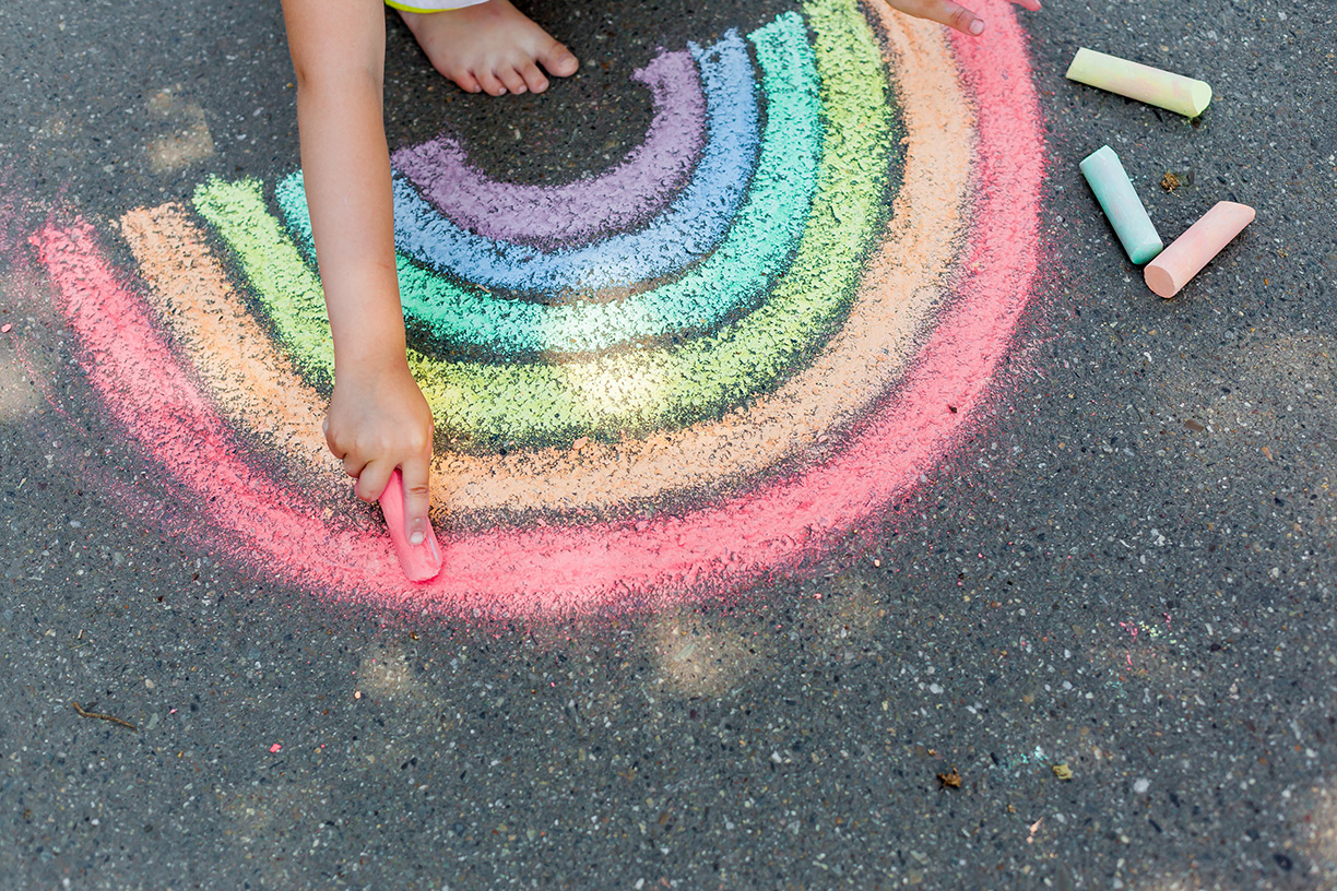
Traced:
[[394, 274], [390, 158], [381, 119], [380, 0], [283, 0], [297, 71], [306, 200], [334, 334], [330, 452], [374, 501], [404, 476], [405, 532], [427, 533], [432, 411], [409, 374]]

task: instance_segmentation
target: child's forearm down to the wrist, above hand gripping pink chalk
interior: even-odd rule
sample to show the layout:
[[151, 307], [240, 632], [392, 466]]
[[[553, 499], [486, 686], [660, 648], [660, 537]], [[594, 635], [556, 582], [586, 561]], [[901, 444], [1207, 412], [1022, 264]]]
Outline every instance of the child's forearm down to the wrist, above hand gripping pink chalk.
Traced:
[[402, 365], [380, 3], [286, 3], [312, 234], [340, 378]]

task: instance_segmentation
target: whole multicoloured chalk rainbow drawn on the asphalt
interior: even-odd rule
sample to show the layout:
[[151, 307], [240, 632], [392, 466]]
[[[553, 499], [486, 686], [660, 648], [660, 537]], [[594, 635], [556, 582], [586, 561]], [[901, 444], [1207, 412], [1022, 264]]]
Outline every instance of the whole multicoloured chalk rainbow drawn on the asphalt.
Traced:
[[299, 174], [31, 240], [106, 411], [279, 585], [485, 617], [723, 596], [919, 485], [996, 398], [1034, 290], [1043, 123], [1011, 8], [980, 4], [976, 40], [872, 5], [660, 51], [642, 143], [572, 183], [488, 179], [448, 136], [394, 152], [440, 438], [427, 585], [325, 452]]

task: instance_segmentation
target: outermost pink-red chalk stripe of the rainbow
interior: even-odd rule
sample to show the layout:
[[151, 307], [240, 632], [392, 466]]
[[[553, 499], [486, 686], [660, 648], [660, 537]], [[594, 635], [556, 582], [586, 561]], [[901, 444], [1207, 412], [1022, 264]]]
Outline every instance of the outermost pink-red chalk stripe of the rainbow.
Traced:
[[896, 398], [877, 403], [825, 464], [679, 516], [444, 537], [447, 569], [421, 586], [404, 581], [388, 538], [322, 521], [299, 492], [247, 465], [90, 224], [52, 224], [32, 243], [107, 407], [195, 494], [193, 509], [238, 557], [277, 582], [493, 618], [707, 596], [796, 568], [878, 516], [941, 460], [988, 399], [1036, 275], [1044, 140], [1023, 32], [1003, 0], [980, 7], [991, 19], [988, 40], [952, 37], [976, 115], [959, 283]]

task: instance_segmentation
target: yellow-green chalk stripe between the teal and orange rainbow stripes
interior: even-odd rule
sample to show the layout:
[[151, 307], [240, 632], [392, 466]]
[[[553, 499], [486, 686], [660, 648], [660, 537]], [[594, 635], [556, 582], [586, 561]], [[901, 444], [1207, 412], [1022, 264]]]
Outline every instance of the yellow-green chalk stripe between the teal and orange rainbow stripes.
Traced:
[[[583, 434], [615, 437], [718, 417], [777, 386], [825, 341], [848, 307], [880, 231], [896, 171], [886, 77], [853, 4], [805, 4], [821, 81], [825, 142], [808, 226], [766, 301], [709, 337], [560, 365], [449, 362], [409, 351], [445, 435], [469, 450], [543, 446]], [[195, 207], [222, 234], [295, 365], [333, 377], [333, 346], [317, 277], [254, 180], [210, 180]]]

